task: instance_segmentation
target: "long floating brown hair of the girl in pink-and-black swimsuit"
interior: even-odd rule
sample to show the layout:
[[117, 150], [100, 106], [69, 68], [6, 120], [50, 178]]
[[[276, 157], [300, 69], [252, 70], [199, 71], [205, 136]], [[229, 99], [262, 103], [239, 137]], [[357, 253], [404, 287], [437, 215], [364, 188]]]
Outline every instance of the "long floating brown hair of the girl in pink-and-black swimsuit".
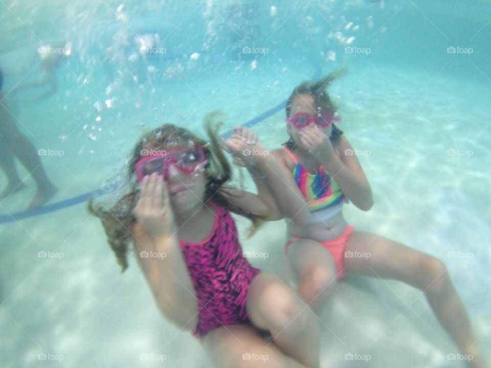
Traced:
[[229, 197], [236, 196], [236, 194], [234, 194], [233, 189], [229, 190], [224, 187], [224, 184], [232, 177], [232, 168], [219, 145], [217, 127], [221, 122], [215, 124], [215, 119], [218, 117], [219, 113], [215, 111], [209, 113], [205, 118], [205, 127], [210, 138], [210, 144], [207, 144], [205, 140], [200, 139], [189, 130], [173, 124], [164, 124], [145, 134], [135, 149], [133, 149], [133, 154], [129, 160], [127, 172], [127, 178], [130, 182], [129, 193], [124, 194], [109, 210], [104, 208], [102, 204], [94, 206], [94, 198], [88, 200], [87, 210], [101, 219], [107, 236], [107, 243], [114, 251], [117, 262], [122, 268], [121, 272], [124, 272], [128, 267], [127, 254], [133, 240], [132, 228], [137, 222], [132, 210], [137, 204], [139, 189], [133, 168], [142, 158], [142, 152], [145, 152], [145, 150], [163, 150], [169, 145], [181, 145], [189, 142], [202, 146], [207, 157], [204, 202], [211, 200], [231, 212], [250, 219], [253, 223], [250, 235], [266, 219], [264, 216], [256, 215], [240, 208], [229, 200]]

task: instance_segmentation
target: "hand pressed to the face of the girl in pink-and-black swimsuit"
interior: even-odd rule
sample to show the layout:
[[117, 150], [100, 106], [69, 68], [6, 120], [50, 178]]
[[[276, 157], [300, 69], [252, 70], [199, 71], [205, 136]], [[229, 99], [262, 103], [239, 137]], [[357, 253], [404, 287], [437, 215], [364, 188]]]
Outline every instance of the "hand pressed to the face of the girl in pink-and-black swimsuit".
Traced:
[[143, 178], [133, 215], [153, 238], [170, 238], [177, 233], [167, 183], [162, 175], [153, 173]]

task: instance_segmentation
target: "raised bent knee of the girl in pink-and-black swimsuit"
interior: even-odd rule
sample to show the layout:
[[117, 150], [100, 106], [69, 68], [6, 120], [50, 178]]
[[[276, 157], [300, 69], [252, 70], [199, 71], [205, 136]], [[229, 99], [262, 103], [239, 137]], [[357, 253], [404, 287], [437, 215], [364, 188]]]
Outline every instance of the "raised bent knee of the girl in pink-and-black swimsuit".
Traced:
[[321, 323], [280, 279], [258, 274], [250, 285], [246, 308], [252, 323], [270, 331], [286, 355], [306, 366], [319, 367]]

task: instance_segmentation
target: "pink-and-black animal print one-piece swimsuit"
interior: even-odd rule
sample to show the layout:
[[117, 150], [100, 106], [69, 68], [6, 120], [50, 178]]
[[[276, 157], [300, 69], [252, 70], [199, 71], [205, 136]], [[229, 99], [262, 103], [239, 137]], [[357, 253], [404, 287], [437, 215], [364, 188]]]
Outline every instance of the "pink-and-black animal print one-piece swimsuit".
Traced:
[[179, 241], [198, 299], [196, 337], [219, 326], [250, 324], [245, 300], [252, 279], [260, 272], [242, 255], [230, 213], [212, 205], [215, 222], [210, 236], [201, 243]]

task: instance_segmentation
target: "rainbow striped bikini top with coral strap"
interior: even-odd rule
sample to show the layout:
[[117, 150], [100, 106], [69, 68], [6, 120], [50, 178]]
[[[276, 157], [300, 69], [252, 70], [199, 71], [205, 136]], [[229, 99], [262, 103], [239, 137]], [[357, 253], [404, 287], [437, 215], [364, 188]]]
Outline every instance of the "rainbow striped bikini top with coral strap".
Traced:
[[292, 174], [300, 192], [302, 193], [310, 211], [319, 211], [342, 203], [346, 196], [341, 191], [338, 183], [331, 179], [322, 165], [315, 174], [310, 174], [300, 164], [295, 155], [286, 147], [285, 152], [293, 159], [295, 169]]

